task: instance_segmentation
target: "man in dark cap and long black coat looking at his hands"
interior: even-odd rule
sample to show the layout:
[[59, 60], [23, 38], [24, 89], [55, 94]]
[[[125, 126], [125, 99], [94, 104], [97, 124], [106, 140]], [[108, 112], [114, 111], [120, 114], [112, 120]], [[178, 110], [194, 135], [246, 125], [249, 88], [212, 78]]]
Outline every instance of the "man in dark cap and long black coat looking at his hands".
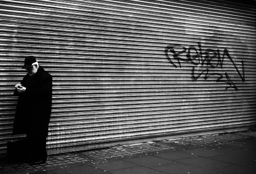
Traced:
[[34, 56], [25, 58], [27, 74], [15, 85], [18, 96], [13, 135], [26, 134], [29, 162], [45, 163], [46, 138], [52, 109], [52, 76], [39, 66]]

